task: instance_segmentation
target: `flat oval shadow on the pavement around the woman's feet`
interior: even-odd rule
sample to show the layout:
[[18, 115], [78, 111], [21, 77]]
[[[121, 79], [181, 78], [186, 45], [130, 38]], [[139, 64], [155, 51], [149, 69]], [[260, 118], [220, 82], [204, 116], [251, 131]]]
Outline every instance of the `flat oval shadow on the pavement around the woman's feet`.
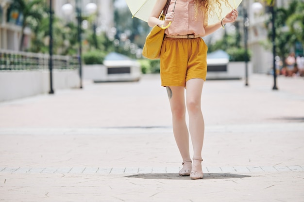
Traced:
[[[146, 173], [146, 174], [135, 174], [126, 177], [135, 177], [143, 179], [164, 179], [164, 180], [189, 180], [189, 177], [181, 177], [177, 173]], [[240, 175], [232, 173], [204, 173], [203, 179], [236, 179], [243, 177], [251, 177], [250, 175]]]

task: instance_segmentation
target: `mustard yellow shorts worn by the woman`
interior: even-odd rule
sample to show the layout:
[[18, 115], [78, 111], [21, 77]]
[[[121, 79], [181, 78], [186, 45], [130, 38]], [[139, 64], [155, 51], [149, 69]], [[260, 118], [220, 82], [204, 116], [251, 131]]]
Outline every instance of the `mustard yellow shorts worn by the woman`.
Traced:
[[206, 80], [208, 47], [202, 38], [165, 38], [160, 53], [162, 86], [186, 86], [191, 78]]

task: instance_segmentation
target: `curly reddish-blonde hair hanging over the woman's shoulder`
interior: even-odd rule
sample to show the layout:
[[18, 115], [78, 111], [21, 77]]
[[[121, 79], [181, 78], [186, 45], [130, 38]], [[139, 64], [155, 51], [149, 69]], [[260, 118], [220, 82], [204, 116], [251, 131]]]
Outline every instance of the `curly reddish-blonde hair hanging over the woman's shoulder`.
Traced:
[[[202, 9], [208, 15], [215, 14], [215, 5], [218, 4], [221, 13], [221, 5], [224, 3], [226, 6], [231, 7], [228, 0], [194, 0], [195, 16], [198, 14], [198, 8]], [[231, 7], [232, 8], [232, 7]]]

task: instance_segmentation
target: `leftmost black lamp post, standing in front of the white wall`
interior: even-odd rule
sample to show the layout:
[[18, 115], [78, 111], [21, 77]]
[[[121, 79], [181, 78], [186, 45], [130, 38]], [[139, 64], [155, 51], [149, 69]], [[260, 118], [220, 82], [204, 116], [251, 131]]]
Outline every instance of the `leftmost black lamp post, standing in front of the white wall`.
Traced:
[[53, 81], [52, 81], [52, 70], [53, 70], [53, 34], [52, 34], [52, 25], [53, 25], [53, 11], [52, 11], [52, 0], [50, 0], [50, 44], [49, 44], [49, 52], [50, 52], [50, 59], [49, 59], [49, 70], [50, 70], [50, 94], [54, 94], [53, 91]]

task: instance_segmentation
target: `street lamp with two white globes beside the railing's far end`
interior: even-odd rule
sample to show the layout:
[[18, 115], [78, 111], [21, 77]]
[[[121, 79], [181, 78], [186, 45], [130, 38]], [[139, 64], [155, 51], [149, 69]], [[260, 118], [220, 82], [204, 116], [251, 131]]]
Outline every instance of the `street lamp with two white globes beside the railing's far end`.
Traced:
[[[83, 88], [83, 83], [82, 83], [82, 43], [81, 43], [81, 21], [82, 21], [82, 15], [81, 15], [81, 5], [80, 5], [80, 0], [76, 0], [76, 14], [77, 14], [77, 32], [78, 32], [78, 44], [79, 44], [79, 49], [78, 49], [78, 60], [79, 60], [79, 78], [80, 78], [80, 88]], [[94, 5], [95, 6], [94, 6]], [[88, 3], [88, 8], [91, 9], [97, 8], [95, 3]], [[63, 13], [68, 16], [72, 14], [73, 12], [73, 6], [70, 3], [66, 3], [61, 7]]]

